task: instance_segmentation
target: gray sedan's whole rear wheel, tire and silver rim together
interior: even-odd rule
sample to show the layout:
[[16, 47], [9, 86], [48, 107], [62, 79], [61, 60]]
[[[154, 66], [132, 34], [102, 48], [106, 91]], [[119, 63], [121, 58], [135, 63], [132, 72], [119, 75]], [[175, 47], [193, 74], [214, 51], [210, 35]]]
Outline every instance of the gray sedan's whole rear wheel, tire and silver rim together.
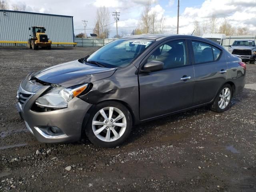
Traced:
[[220, 91], [218, 92], [214, 102], [210, 106], [210, 110], [222, 113], [228, 110], [230, 102], [233, 96], [233, 90], [230, 84], [224, 84]]

